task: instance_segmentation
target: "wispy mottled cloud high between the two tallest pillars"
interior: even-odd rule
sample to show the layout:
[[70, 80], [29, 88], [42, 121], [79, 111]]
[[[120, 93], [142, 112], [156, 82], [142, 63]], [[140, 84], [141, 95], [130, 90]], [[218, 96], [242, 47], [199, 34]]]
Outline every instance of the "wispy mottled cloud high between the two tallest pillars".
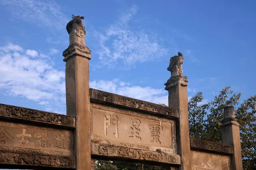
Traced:
[[105, 31], [96, 32], [101, 48], [97, 53], [103, 65], [112, 68], [117, 64], [131, 66], [166, 54], [167, 49], [161, 45], [161, 39], [155, 33], [130, 26], [137, 11], [138, 7], [132, 6]]

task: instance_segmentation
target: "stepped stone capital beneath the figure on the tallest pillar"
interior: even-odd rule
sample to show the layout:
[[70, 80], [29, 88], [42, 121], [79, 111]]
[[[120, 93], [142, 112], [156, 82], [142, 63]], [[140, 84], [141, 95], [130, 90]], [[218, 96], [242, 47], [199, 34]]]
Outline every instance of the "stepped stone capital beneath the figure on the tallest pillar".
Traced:
[[73, 44], [72, 46], [69, 46], [65, 51], [63, 51], [62, 55], [65, 57], [63, 61], [67, 62], [67, 60], [73, 56], [80, 56], [90, 60], [91, 59], [90, 54], [91, 54], [91, 51], [86, 45], [80, 47], [80, 46], [77, 46], [76, 44]]

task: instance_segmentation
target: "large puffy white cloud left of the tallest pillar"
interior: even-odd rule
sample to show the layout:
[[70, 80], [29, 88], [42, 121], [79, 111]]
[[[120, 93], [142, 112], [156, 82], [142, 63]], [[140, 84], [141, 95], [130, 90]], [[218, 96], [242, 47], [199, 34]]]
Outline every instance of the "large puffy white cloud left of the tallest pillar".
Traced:
[[[65, 73], [52, 67], [49, 58], [19, 45], [0, 47], [0, 89], [9, 96], [21, 96], [40, 105], [65, 104]], [[65, 107], [64, 107], [65, 108]]]

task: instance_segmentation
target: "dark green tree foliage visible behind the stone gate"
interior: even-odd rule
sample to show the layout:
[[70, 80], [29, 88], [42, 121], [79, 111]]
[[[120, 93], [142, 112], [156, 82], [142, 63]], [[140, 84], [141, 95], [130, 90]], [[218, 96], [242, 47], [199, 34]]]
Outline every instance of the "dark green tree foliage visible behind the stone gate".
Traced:
[[[190, 137], [221, 142], [221, 120], [224, 108], [234, 106], [239, 119], [241, 150], [244, 170], [256, 169], [256, 96], [250, 96], [240, 103], [241, 94], [234, 93], [227, 86], [211, 102], [205, 102], [199, 92], [188, 103]], [[161, 104], [164, 105], [164, 104]], [[100, 164], [100, 166], [99, 166]], [[170, 167], [156, 167], [121, 161], [98, 161], [97, 170], [169, 170]]]

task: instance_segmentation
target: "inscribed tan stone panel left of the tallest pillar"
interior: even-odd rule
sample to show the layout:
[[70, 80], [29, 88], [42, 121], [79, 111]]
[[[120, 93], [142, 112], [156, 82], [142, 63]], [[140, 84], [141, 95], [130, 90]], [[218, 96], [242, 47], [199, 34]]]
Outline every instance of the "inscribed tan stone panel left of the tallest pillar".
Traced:
[[70, 130], [0, 121], [0, 151], [72, 156]]

